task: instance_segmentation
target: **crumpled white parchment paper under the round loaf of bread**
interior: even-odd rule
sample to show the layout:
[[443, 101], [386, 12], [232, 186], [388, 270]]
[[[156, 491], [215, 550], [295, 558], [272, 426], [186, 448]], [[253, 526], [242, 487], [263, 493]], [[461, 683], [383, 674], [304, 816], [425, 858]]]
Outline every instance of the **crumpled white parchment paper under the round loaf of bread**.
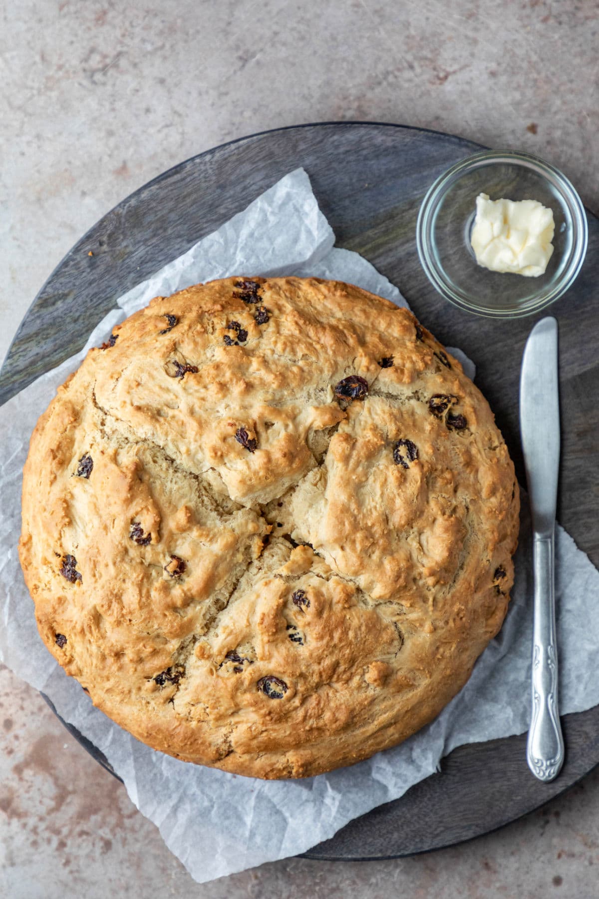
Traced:
[[[400, 291], [370, 263], [334, 248], [334, 239], [308, 176], [298, 169], [120, 298], [121, 308], [98, 325], [88, 346], [105, 340], [113, 325], [154, 296], [232, 274], [336, 278], [406, 305]], [[461, 693], [431, 725], [395, 749], [317, 778], [265, 782], [154, 752], [93, 708], [41, 643], [17, 556], [22, 466], [31, 430], [56, 387], [83, 357], [81, 352], [66, 360], [0, 408], [0, 658], [46, 693], [58, 713], [101, 749], [129, 797], [160, 828], [192, 877], [204, 882], [303, 852], [357, 815], [400, 797], [436, 770], [455, 746], [526, 730], [532, 581], [525, 497], [516, 582], [504, 627]], [[599, 573], [559, 527], [556, 548], [560, 706], [565, 714], [599, 703]]]

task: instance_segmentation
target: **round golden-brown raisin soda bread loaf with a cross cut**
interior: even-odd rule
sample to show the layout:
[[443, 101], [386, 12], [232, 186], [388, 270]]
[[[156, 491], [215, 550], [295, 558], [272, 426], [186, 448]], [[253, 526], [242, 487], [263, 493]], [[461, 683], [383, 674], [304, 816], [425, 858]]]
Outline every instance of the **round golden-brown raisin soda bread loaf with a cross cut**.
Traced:
[[58, 389], [20, 548], [95, 705], [154, 749], [288, 778], [452, 699], [506, 614], [517, 522], [489, 405], [410, 312], [229, 278], [154, 299]]

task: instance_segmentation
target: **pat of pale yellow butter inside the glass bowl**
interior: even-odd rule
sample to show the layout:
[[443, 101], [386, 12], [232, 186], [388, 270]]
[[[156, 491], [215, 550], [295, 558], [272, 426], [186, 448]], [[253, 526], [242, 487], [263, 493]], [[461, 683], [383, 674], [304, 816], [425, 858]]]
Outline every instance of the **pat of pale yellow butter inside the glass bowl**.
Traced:
[[489, 200], [486, 193], [476, 198], [471, 245], [485, 269], [528, 278], [544, 274], [554, 231], [552, 210], [537, 200]]

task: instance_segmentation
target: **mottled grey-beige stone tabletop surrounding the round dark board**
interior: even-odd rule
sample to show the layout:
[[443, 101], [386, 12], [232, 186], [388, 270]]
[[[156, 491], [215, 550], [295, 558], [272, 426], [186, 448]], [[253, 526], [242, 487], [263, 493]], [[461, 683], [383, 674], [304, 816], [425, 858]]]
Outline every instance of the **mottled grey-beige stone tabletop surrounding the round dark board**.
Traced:
[[[595, 0], [1, 0], [0, 359], [48, 273], [129, 192], [305, 121], [443, 129], [545, 156], [599, 212]], [[201, 850], [201, 849], [200, 849]], [[599, 895], [599, 773], [500, 832], [412, 859], [289, 859], [198, 886], [0, 668], [0, 895]]]

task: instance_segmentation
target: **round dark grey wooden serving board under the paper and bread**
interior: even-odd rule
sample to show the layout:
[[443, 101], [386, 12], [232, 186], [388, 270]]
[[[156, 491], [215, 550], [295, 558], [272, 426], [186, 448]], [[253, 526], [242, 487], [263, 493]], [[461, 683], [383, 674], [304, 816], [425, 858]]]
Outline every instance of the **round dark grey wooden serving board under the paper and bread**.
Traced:
[[[517, 387], [524, 341], [540, 316], [496, 321], [448, 305], [428, 284], [416, 253], [416, 218], [428, 186], [447, 166], [478, 149], [434, 131], [337, 122], [253, 135], [175, 166], [119, 203], [57, 266], [25, 316], [0, 371], [0, 403], [79, 350], [121, 293], [303, 165], [338, 245], [366, 256], [401, 288], [440, 341], [462, 347], [476, 362], [477, 383], [489, 398], [524, 482]], [[551, 313], [559, 320], [559, 521], [597, 565], [599, 220], [591, 213], [588, 219], [586, 263], [574, 288]], [[463, 746], [442, 762], [439, 774], [349, 823], [306, 855], [409, 855], [513, 821], [599, 763], [599, 707], [567, 716], [563, 724], [566, 763], [553, 783], [542, 784], [529, 773], [524, 736]], [[88, 741], [82, 742], [98, 761], [105, 761]]]

